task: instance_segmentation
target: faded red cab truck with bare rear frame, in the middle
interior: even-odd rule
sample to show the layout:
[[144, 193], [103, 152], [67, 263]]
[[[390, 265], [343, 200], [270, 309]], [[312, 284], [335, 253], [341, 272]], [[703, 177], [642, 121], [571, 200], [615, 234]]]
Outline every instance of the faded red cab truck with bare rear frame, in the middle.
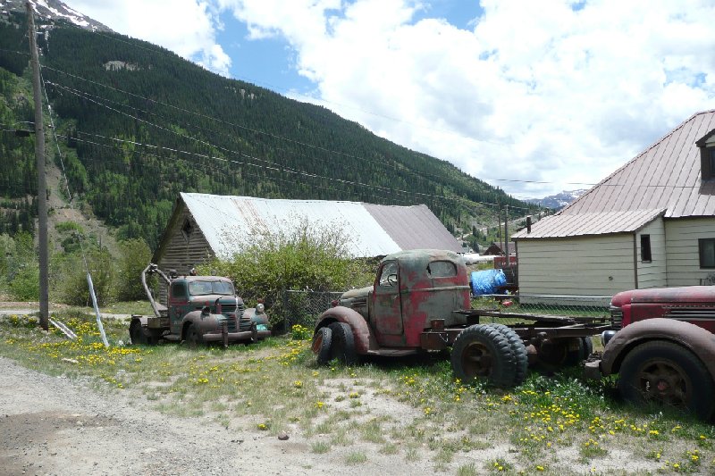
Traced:
[[[451, 347], [451, 364], [463, 380], [486, 378], [513, 387], [526, 377], [528, 349], [544, 361], [566, 363], [590, 353], [590, 336], [610, 329], [593, 319], [509, 313], [525, 323], [498, 320], [498, 311], [470, 308], [467, 265], [442, 250], [411, 250], [380, 262], [372, 286], [333, 302], [315, 324], [313, 352], [319, 363], [354, 363], [359, 355], [411, 355]], [[574, 362], [576, 363], [576, 362]]]

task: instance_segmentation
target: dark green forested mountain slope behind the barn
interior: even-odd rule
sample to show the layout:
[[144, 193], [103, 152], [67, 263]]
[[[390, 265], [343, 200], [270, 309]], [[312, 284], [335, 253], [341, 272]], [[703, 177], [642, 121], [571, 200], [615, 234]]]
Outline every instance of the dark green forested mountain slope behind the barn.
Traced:
[[[28, 225], [8, 204], [28, 214], [36, 192], [34, 138], [12, 132], [32, 121], [26, 25], [23, 13], [0, 19], [0, 207], [16, 215], [15, 230]], [[43, 30], [42, 76], [71, 193], [118, 238], [156, 246], [181, 191], [424, 203], [450, 230], [493, 217], [484, 204], [514, 215], [530, 206], [324, 107], [225, 79], [159, 46], [59, 21]], [[59, 161], [55, 146], [46, 149]]]

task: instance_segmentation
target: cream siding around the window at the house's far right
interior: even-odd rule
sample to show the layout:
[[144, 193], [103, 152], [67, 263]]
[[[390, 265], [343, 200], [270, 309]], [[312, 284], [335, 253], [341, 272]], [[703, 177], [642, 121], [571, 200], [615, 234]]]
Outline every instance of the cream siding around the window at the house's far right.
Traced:
[[698, 249], [698, 239], [715, 238], [715, 218], [666, 220], [665, 232], [668, 286], [698, 285], [715, 272], [700, 268]]

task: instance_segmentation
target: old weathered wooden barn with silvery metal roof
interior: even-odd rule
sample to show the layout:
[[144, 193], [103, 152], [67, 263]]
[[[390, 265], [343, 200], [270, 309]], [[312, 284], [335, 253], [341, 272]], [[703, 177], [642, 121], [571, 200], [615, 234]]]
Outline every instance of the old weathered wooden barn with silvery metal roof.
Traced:
[[213, 257], [229, 258], [261, 230], [339, 227], [354, 257], [439, 248], [461, 252], [456, 238], [426, 205], [391, 206], [324, 200], [181, 193], [164, 230], [154, 263], [187, 272]]

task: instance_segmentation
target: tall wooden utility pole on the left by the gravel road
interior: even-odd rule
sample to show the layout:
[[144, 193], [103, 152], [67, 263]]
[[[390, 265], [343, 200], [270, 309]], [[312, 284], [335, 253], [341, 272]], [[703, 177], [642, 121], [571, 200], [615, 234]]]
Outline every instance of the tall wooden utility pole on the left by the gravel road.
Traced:
[[29, 54], [32, 63], [32, 92], [35, 98], [35, 158], [38, 163], [38, 247], [39, 247], [39, 324], [49, 329], [49, 284], [47, 280], [47, 190], [45, 181], [45, 128], [42, 121], [42, 94], [39, 86], [38, 44], [32, 4], [28, 9]]

